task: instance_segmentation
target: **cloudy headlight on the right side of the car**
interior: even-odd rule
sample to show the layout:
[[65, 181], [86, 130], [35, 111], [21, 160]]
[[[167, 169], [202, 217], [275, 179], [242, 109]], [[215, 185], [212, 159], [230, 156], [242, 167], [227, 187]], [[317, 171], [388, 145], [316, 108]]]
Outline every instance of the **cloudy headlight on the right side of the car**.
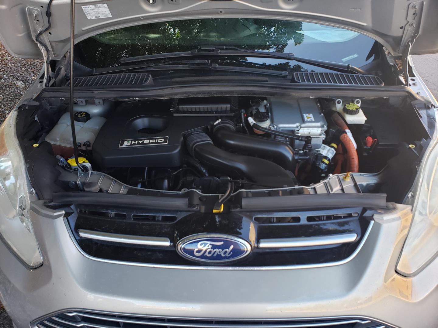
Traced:
[[412, 224], [403, 246], [397, 271], [412, 276], [438, 254], [438, 145], [424, 159], [419, 175]]

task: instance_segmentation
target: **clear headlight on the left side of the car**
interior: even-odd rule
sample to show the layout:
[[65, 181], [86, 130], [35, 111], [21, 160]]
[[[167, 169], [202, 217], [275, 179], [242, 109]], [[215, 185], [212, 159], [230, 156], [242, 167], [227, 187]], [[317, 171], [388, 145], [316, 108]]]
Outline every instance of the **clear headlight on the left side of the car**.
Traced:
[[42, 264], [29, 218], [25, 162], [16, 136], [17, 110], [0, 128], [0, 237], [28, 267]]

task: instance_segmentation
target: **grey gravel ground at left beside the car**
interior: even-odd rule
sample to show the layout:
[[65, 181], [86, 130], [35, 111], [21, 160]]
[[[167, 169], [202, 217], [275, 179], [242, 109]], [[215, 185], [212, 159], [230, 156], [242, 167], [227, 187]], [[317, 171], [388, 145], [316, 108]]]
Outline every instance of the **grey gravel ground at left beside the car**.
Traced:
[[[17, 59], [0, 43], [0, 124], [38, 76], [42, 60]], [[0, 303], [0, 327], [12, 328], [12, 321]]]

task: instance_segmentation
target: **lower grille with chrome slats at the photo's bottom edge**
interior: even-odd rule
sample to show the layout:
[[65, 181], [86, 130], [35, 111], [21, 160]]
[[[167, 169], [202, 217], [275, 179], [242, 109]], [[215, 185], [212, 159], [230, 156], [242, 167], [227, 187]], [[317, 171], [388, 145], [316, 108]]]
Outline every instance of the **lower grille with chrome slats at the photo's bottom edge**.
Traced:
[[39, 321], [38, 328], [385, 328], [360, 318], [291, 320], [209, 320], [134, 316], [126, 314], [64, 312]]

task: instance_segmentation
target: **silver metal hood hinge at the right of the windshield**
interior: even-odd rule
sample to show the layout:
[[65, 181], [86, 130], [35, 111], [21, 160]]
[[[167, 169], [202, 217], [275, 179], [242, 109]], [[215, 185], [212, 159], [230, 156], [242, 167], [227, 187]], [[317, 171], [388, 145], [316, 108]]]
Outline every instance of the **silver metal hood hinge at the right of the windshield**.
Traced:
[[407, 10], [407, 24], [404, 27], [400, 53], [402, 54], [403, 67], [399, 74], [404, 74], [406, 86], [409, 86], [409, 54], [415, 39], [420, 31], [421, 15], [423, 14], [423, 1], [410, 3]]

